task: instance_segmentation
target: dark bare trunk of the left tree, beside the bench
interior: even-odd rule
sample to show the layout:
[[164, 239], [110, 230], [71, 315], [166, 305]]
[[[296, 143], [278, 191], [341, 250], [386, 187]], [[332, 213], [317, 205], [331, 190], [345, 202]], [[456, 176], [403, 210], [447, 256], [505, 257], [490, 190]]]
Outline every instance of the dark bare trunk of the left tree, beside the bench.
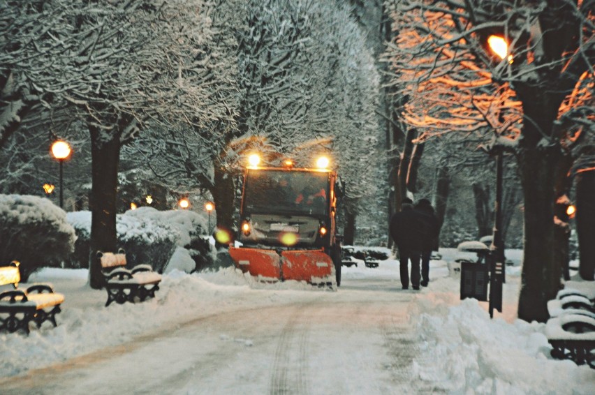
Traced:
[[89, 285], [100, 289], [105, 285], [101, 268], [97, 264], [97, 251], [116, 252], [116, 199], [118, 165], [120, 156], [119, 136], [104, 141], [102, 132], [89, 125], [91, 132], [91, 242], [89, 251]]

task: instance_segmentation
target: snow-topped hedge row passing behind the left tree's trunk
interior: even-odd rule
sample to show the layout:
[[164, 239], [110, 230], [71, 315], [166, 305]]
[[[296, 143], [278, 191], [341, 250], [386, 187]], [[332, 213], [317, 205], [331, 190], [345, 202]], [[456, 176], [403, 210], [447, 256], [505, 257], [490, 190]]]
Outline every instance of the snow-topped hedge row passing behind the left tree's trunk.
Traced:
[[[76, 211], [66, 215], [78, 235], [75, 253], [66, 267], [88, 267], [91, 212]], [[205, 219], [193, 211], [158, 211], [141, 207], [116, 217], [118, 247], [126, 251], [129, 266], [147, 263], [159, 272], [166, 271], [172, 255], [175, 262], [185, 262], [179, 269], [192, 271], [210, 266], [214, 251], [206, 239]], [[177, 251], [182, 248], [186, 251]], [[180, 260], [182, 256], [185, 259]], [[193, 267], [189, 267], [189, 259]]]

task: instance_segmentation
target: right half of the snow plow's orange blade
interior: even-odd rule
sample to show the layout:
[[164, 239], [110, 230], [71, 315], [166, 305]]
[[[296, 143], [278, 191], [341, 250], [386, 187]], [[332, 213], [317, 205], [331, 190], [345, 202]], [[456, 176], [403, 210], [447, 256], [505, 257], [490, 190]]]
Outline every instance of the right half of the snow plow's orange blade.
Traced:
[[332, 260], [322, 250], [283, 251], [281, 256], [284, 280], [321, 283], [332, 274]]

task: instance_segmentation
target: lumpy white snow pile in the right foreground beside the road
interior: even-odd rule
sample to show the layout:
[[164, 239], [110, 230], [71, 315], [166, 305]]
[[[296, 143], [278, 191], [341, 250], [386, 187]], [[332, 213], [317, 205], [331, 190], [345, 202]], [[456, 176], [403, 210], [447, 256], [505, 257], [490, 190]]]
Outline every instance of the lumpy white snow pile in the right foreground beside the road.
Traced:
[[544, 329], [490, 320], [474, 299], [429, 309], [418, 322], [425, 355], [416, 360], [419, 377], [455, 394], [587, 394], [593, 372], [551, 359]]

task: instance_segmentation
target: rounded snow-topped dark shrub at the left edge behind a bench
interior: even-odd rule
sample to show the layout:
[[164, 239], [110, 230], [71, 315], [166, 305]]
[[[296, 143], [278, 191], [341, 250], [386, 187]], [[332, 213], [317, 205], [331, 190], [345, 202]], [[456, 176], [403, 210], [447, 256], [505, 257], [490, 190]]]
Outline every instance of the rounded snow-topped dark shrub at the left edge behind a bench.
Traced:
[[75, 239], [66, 213], [50, 200], [0, 195], [0, 265], [19, 261], [22, 281], [41, 267], [61, 264]]

